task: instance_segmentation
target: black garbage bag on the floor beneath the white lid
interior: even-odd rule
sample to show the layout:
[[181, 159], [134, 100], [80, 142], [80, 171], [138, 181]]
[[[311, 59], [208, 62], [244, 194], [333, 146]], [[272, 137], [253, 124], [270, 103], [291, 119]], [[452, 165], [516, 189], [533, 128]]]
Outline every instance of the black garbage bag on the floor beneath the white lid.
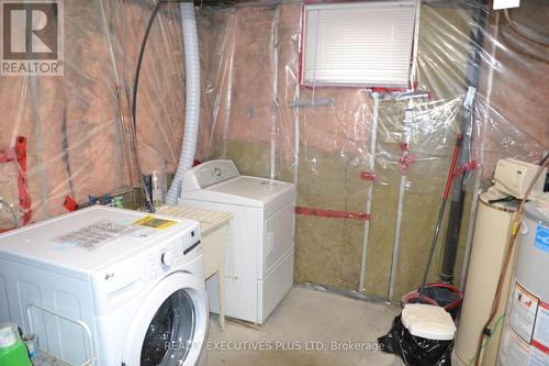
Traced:
[[412, 335], [401, 315], [394, 318], [389, 334], [378, 339], [380, 348], [402, 358], [406, 366], [451, 366], [453, 341], [435, 341]]

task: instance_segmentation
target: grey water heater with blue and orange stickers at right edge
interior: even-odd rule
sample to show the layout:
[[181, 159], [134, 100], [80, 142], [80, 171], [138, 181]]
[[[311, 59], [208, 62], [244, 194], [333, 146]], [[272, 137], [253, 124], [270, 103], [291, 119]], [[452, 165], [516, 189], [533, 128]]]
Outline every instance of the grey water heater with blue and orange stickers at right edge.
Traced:
[[528, 202], [509, 289], [500, 366], [549, 365], [549, 206]]

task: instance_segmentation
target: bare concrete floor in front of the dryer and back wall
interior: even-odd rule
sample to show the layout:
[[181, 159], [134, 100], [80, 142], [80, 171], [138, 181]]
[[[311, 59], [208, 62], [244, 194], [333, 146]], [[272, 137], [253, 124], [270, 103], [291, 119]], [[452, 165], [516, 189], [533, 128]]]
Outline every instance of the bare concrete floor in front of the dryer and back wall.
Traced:
[[[261, 326], [228, 320], [221, 332], [219, 318], [212, 314], [208, 365], [402, 365], [393, 355], [371, 351], [400, 311], [399, 307], [293, 288]], [[362, 351], [349, 351], [349, 342]], [[333, 346], [343, 350], [333, 351]]]

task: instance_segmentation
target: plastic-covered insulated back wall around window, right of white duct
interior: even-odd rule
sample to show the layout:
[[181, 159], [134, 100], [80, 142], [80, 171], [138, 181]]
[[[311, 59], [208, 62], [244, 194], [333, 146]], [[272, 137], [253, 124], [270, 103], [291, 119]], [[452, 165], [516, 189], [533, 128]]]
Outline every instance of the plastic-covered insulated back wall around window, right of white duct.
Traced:
[[[488, 9], [483, 11], [488, 14]], [[320, 88], [314, 97], [333, 98], [332, 106], [289, 107], [292, 100], [313, 97], [311, 90], [299, 87], [300, 12], [299, 3], [203, 10], [200, 38], [204, 92], [198, 157], [231, 158], [243, 174], [294, 181], [300, 207], [363, 212], [371, 199], [365, 286], [359, 286], [365, 221], [315, 215], [296, 218], [295, 281], [399, 300], [419, 285], [425, 266], [451, 151], [463, 119], [475, 8], [423, 5], [418, 87], [428, 91], [429, 98], [416, 99], [412, 106], [413, 162], [405, 166], [400, 162], [407, 100], [380, 100], [373, 182], [360, 179], [362, 171], [372, 170], [374, 101], [369, 90]], [[489, 14], [489, 24], [493, 16]], [[492, 40], [489, 26], [486, 44]], [[534, 162], [548, 145], [544, 137], [549, 130], [547, 123], [537, 123], [538, 133], [533, 137], [522, 131], [527, 126], [531, 131], [533, 122], [511, 122], [497, 109], [500, 104], [486, 103], [486, 65], [498, 67], [488, 49], [486, 45], [481, 48], [474, 142], [469, 146], [471, 159], [483, 169], [469, 173], [466, 179], [468, 196], [455, 267], [457, 284], [470, 231], [477, 175], [482, 174], [484, 180], [480, 180], [485, 185], [498, 157]], [[498, 68], [498, 73], [505, 77], [509, 71]], [[484, 140], [490, 144], [481, 146]], [[373, 185], [371, 197], [369, 185]], [[402, 215], [396, 234], [399, 208]], [[446, 222], [442, 233], [445, 228]], [[397, 255], [395, 237], [400, 242]], [[433, 280], [440, 270], [444, 240], [442, 234], [432, 267]]]

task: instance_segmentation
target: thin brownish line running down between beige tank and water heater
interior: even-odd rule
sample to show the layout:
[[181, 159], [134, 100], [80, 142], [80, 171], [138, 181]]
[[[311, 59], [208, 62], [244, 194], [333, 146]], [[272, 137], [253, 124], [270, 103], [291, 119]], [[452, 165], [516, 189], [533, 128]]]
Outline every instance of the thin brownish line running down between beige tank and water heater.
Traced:
[[507, 248], [506, 248], [506, 252], [505, 252], [505, 259], [504, 259], [502, 269], [500, 271], [500, 278], [497, 280], [497, 287], [496, 287], [496, 290], [495, 290], [494, 299], [492, 301], [492, 309], [490, 310], [490, 315], [489, 315], [486, 322], [482, 326], [482, 332], [481, 332], [481, 335], [479, 336], [479, 342], [477, 344], [477, 351], [474, 353], [474, 357], [475, 357], [474, 365], [475, 366], [479, 366], [480, 355], [481, 355], [481, 352], [482, 352], [482, 343], [484, 341], [484, 334], [489, 330], [490, 323], [492, 323], [492, 321], [494, 320], [495, 314], [497, 313], [497, 309], [500, 308], [500, 302], [501, 302], [501, 297], [502, 297], [502, 290], [503, 290], [503, 285], [504, 285], [503, 282], [505, 280], [505, 275], [506, 275], [508, 266], [511, 264], [511, 257], [512, 257], [512, 254], [513, 254], [513, 249], [515, 247], [516, 239], [518, 236], [518, 230], [520, 229], [520, 223], [523, 221], [524, 207], [525, 207], [525, 204], [526, 204], [526, 202], [528, 200], [528, 197], [530, 196], [530, 193], [531, 193], [531, 191], [534, 189], [534, 186], [536, 185], [536, 181], [538, 181], [539, 176], [541, 175], [541, 173], [544, 171], [544, 169], [549, 166], [549, 158], [548, 158], [548, 156], [546, 156], [542, 159], [542, 162], [544, 162], [544, 164], [539, 167], [538, 171], [536, 173], [536, 176], [534, 177], [534, 179], [531, 180], [530, 185], [528, 186], [528, 189], [526, 190], [526, 193], [524, 195], [523, 200], [520, 201], [520, 206], [518, 207], [515, 221], [513, 222], [512, 233], [511, 233], [509, 241], [508, 241], [508, 244], [507, 244]]

